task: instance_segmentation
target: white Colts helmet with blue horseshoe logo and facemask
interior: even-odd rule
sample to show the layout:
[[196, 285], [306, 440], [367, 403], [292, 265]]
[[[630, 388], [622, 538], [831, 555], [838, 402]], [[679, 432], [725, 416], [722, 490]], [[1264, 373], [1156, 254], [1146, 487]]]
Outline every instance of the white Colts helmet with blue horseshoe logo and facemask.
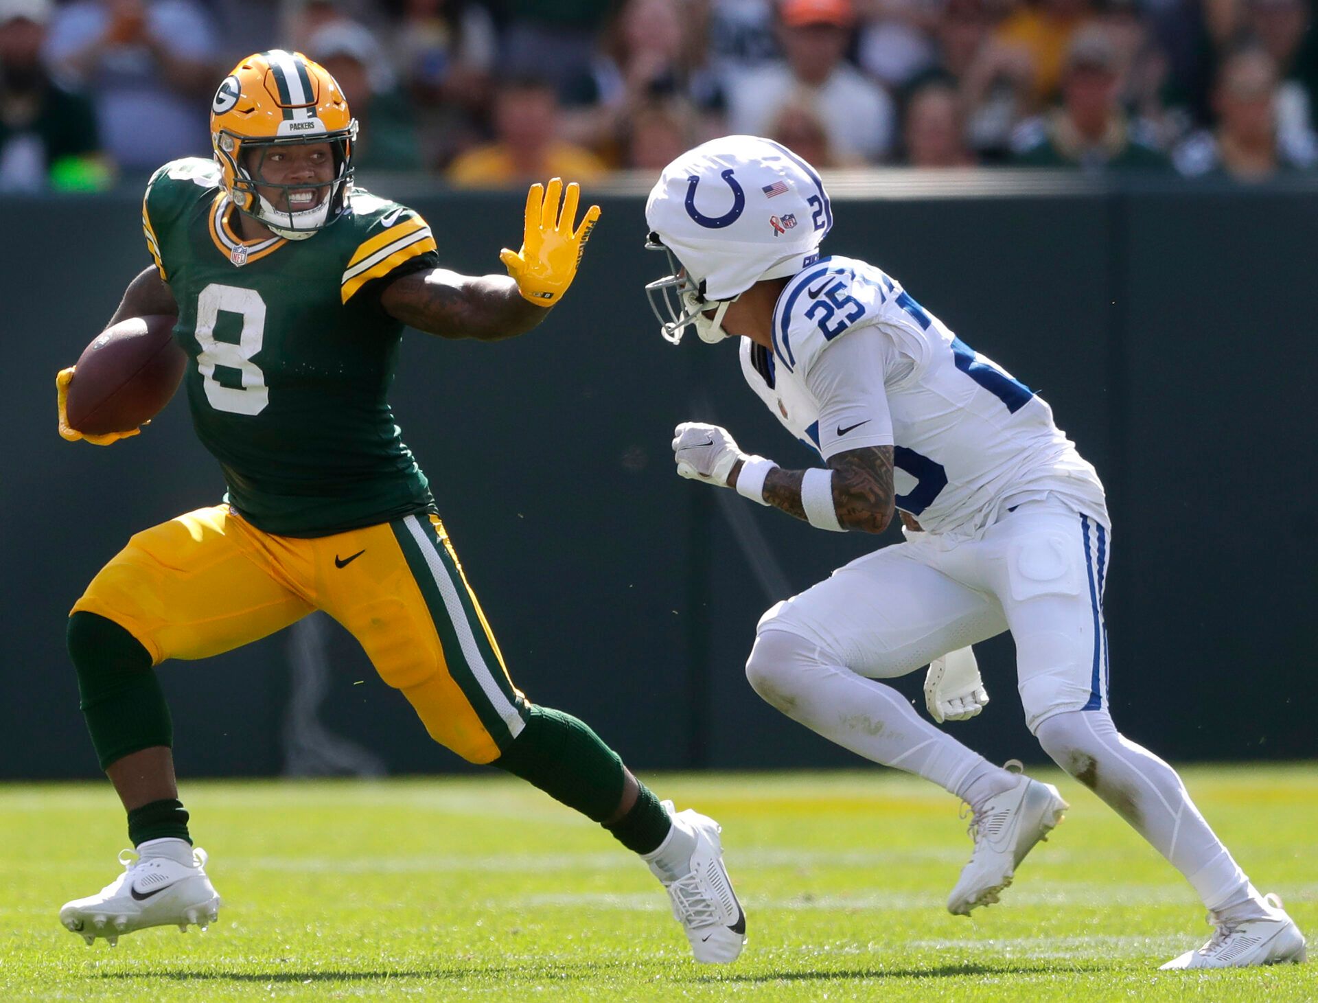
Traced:
[[737, 297], [818, 257], [833, 208], [818, 173], [782, 144], [724, 136], [663, 169], [646, 221], [646, 246], [667, 252], [672, 268], [646, 286], [664, 339], [677, 344], [695, 324], [701, 340], [716, 344], [726, 337], [724, 314]]

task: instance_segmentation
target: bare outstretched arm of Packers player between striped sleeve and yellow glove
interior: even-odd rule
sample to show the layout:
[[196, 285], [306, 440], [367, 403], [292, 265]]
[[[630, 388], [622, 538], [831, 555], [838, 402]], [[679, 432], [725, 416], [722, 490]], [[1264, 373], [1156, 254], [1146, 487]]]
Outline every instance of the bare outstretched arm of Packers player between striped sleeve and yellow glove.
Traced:
[[460, 275], [443, 268], [390, 282], [380, 302], [418, 331], [480, 341], [525, 335], [550, 312], [529, 302], [507, 275]]

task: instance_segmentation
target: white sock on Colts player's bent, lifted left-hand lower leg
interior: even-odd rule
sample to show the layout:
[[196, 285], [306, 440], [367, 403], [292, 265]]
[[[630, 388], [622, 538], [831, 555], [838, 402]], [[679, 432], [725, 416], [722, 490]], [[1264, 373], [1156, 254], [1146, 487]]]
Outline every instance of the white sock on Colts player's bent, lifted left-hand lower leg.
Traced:
[[[965, 796], [973, 780], [1015, 786], [1016, 778], [924, 721], [896, 689], [833, 664], [816, 645], [764, 630], [746, 663], [751, 687], [812, 731], [875, 763], [905, 770]], [[998, 774], [1002, 776], [999, 778]], [[978, 792], [977, 792], [978, 796]]]

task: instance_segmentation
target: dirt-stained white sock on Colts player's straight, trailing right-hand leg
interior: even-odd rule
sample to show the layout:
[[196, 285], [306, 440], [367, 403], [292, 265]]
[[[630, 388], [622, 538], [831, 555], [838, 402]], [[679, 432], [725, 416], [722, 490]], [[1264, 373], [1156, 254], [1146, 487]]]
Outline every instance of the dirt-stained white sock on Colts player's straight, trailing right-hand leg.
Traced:
[[1036, 734], [1062, 770], [1107, 801], [1185, 875], [1211, 912], [1249, 912], [1261, 904], [1176, 771], [1118, 734], [1106, 710], [1049, 717]]

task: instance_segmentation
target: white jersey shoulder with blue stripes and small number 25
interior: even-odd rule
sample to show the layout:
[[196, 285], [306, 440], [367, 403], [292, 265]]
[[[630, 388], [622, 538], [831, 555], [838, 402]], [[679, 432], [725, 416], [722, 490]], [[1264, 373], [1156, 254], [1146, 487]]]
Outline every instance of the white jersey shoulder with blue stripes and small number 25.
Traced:
[[774, 308], [774, 356], [805, 373], [830, 341], [878, 319], [886, 275], [863, 261], [820, 258], [783, 289]]

